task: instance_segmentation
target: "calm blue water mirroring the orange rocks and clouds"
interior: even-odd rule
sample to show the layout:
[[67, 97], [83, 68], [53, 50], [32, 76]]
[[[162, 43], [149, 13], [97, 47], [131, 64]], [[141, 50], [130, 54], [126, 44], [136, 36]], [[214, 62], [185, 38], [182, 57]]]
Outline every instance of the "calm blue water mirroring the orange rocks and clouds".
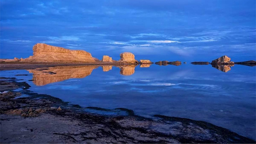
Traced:
[[127, 108], [150, 118], [161, 114], [202, 120], [255, 140], [256, 67], [219, 69], [225, 72], [211, 65], [152, 64], [144, 68], [68, 66], [0, 74], [24, 79], [20, 81], [28, 82], [29, 90], [84, 108]]

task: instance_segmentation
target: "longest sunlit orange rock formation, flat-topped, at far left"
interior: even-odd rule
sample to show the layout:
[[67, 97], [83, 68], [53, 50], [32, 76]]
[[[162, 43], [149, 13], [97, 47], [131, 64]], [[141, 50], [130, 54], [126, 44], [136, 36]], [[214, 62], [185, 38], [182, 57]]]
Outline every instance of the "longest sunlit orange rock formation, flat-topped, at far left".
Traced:
[[94, 58], [84, 50], [69, 50], [48, 44], [36, 44], [33, 47], [33, 56], [22, 62], [85, 62], [93, 63]]

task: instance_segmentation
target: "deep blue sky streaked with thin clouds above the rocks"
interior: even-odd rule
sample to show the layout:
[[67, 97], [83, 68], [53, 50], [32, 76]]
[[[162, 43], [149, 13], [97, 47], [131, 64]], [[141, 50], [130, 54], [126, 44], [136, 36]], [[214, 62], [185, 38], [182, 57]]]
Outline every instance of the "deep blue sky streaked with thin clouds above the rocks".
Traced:
[[0, 0], [0, 58], [36, 43], [119, 60], [256, 60], [255, 0]]

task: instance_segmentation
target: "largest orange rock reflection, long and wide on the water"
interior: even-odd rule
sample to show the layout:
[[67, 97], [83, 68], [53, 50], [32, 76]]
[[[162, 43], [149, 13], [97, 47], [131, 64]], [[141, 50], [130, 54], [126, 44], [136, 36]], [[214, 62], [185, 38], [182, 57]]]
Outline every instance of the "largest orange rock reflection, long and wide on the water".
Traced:
[[44, 86], [53, 82], [60, 82], [70, 78], [84, 78], [98, 66], [56, 66], [28, 70], [33, 73], [33, 82], [36, 86]]

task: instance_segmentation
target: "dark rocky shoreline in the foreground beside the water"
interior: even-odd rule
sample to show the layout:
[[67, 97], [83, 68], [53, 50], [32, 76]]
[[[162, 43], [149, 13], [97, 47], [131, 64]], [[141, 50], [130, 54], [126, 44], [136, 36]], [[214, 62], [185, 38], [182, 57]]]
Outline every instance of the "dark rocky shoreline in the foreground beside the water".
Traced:
[[[0, 79], [1, 143], [255, 143], [208, 122], [155, 115], [105, 116]], [[26, 95], [26, 97], [20, 97]]]

